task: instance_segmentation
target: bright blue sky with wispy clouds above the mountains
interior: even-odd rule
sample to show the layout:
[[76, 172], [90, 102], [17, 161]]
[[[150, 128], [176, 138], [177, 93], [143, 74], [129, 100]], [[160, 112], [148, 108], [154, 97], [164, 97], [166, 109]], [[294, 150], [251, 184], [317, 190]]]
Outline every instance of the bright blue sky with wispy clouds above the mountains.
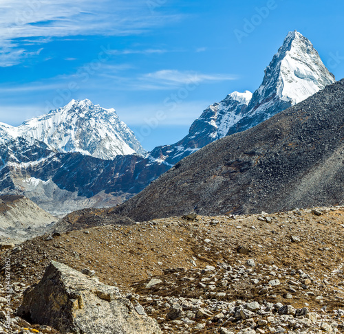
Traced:
[[344, 77], [341, 0], [70, 2], [0, 1], [0, 122], [88, 98], [147, 150], [171, 144], [209, 104], [255, 91], [291, 30]]

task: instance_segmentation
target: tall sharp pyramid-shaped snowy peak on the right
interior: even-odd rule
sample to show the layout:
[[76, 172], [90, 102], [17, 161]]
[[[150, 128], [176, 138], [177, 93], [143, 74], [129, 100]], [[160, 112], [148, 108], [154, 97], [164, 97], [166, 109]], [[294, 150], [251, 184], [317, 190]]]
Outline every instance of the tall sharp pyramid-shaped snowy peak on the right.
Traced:
[[289, 32], [266, 67], [263, 82], [253, 93], [248, 109], [227, 134], [250, 129], [335, 81], [308, 38], [296, 30]]

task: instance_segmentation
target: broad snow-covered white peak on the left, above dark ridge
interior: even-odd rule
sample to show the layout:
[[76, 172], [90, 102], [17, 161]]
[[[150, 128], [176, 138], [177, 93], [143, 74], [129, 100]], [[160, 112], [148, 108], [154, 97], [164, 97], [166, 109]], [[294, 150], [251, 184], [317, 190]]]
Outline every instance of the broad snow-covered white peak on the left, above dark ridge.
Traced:
[[144, 153], [114, 109], [101, 108], [89, 100], [72, 100], [21, 126], [0, 124], [0, 135], [5, 141], [11, 137], [23, 137], [28, 142], [39, 140], [58, 152], [80, 152], [100, 159]]

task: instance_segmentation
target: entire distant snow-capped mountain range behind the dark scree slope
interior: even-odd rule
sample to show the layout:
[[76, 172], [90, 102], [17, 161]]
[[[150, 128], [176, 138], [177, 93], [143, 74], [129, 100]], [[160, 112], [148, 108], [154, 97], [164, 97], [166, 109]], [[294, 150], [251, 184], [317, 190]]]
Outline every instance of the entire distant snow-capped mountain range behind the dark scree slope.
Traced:
[[89, 100], [72, 100], [18, 127], [0, 124], [1, 193], [25, 194], [54, 214], [122, 203], [184, 157], [333, 82], [312, 43], [290, 32], [255, 93], [230, 93], [208, 107], [180, 142], [149, 153], [114, 109]]

